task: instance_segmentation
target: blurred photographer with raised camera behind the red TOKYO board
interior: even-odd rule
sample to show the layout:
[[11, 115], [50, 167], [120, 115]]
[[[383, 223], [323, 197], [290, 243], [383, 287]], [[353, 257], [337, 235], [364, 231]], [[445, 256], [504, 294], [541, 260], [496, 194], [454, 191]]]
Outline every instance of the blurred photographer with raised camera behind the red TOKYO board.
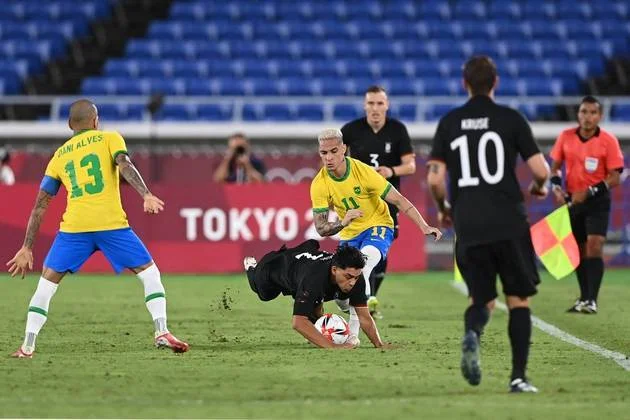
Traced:
[[253, 156], [251, 146], [243, 133], [235, 133], [228, 139], [228, 150], [214, 172], [215, 182], [247, 184], [264, 182], [265, 165]]

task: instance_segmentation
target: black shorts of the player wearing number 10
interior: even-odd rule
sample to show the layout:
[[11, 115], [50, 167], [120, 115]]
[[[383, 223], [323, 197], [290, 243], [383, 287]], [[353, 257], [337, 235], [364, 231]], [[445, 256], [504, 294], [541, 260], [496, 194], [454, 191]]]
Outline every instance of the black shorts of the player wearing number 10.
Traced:
[[474, 303], [497, 297], [497, 274], [506, 296], [529, 297], [540, 283], [536, 253], [529, 231], [518, 239], [455, 246], [457, 265]]

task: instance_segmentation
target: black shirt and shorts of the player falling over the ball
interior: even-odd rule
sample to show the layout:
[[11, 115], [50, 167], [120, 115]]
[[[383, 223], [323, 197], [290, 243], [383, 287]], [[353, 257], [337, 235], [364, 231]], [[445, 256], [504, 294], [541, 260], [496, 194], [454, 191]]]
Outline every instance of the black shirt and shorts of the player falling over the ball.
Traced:
[[333, 254], [319, 249], [319, 242], [308, 240], [295, 248], [283, 246], [266, 254], [255, 269], [247, 271], [251, 289], [263, 301], [273, 300], [281, 293], [295, 299], [293, 315], [317, 320], [315, 309], [333, 299], [350, 299], [352, 306], [365, 306], [365, 281], [359, 279], [350, 290], [343, 292], [331, 279]]

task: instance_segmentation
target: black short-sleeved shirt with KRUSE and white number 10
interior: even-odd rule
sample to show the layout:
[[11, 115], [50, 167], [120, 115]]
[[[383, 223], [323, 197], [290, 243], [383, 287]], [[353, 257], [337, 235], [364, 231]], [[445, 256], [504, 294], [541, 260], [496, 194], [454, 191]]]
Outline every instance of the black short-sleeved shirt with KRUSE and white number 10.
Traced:
[[430, 159], [446, 164], [458, 242], [514, 239], [529, 229], [517, 157], [539, 152], [527, 120], [488, 96], [474, 96], [442, 117]]

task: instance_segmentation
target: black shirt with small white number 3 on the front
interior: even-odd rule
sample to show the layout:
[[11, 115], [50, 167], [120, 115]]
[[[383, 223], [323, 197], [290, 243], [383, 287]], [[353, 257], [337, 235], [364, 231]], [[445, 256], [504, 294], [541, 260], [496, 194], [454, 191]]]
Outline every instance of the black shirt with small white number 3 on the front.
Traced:
[[[372, 130], [366, 117], [347, 123], [341, 133], [344, 143], [350, 146], [350, 156], [375, 168], [398, 166], [402, 156], [413, 153], [407, 127], [393, 118], [385, 119], [378, 133]], [[399, 177], [393, 176], [389, 182], [400, 188]]]

